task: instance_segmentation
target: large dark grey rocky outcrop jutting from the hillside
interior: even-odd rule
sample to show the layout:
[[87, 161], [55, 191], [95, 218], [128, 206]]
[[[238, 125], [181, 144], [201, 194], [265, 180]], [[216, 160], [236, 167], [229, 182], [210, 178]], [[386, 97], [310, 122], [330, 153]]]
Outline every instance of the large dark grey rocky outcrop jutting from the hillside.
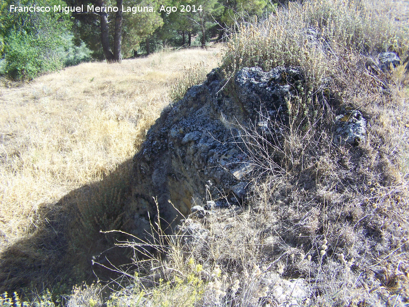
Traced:
[[127, 230], [140, 235], [157, 208], [171, 223], [195, 205], [240, 202], [258, 167], [241, 146], [243, 129], [265, 129], [266, 119], [286, 126], [288, 101], [303, 82], [300, 68], [244, 68], [225, 86], [215, 69], [191, 87], [165, 109], [133, 159]]

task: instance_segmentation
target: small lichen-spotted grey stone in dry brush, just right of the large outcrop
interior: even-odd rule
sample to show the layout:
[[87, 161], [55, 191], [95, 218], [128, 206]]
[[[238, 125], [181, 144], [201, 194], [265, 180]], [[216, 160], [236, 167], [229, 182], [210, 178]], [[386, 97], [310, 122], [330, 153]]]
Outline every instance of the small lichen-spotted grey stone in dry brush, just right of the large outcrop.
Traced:
[[356, 146], [365, 142], [367, 137], [367, 120], [362, 113], [355, 110], [336, 117], [334, 142]]

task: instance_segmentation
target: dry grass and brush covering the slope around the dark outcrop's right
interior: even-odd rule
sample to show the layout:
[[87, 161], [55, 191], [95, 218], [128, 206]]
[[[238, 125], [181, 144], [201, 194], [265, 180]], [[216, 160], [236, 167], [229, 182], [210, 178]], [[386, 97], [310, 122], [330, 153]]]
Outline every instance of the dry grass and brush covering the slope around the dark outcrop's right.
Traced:
[[[299, 277], [309, 295], [300, 304], [407, 304], [409, 79], [403, 65], [391, 73], [367, 65], [382, 51], [407, 55], [407, 20], [397, 16], [407, 11], [391, 8], [393, 2], [305, 1], [241, 26], [222, 63], [226, 78], [247, 66], [301, 65], [307, 84], [291, 101], [292, 124], [281, 142], [240, 127], [239, 145], [262, 170], [248, 202], [190, 216], [185, 223], [196, 223], [206, 238], [168, 237], [167, 256], [152, 259], [148, 278], [156, 268], [172, 284], [202, 266], [208, 287], [196, 305], [203, 306], [284, 306], [272, 295], [276, 281]], [[354, 109], [368, 120], [367, 140], [334, 144], [332, 120]], [[297, 110], [305, 115], [297, 118]]]

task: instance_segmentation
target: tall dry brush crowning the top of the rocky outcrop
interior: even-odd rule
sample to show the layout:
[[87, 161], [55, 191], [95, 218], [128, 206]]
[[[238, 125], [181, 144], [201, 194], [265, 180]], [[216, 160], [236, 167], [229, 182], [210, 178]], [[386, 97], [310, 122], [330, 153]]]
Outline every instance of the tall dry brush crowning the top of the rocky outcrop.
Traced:
[[408, 25], [396, 21], [399, 13], [391, 7], [392, 2], [365, 0], [289, 3], [266, 20], [256, 19], [233, 31], [222, 68], [230, 75], [243, 67], [267, 71], [278, 65], [301, 65], [320, 81], [340, 55], [334, 47], [367, 56], [395, 51], [403, 59]]

